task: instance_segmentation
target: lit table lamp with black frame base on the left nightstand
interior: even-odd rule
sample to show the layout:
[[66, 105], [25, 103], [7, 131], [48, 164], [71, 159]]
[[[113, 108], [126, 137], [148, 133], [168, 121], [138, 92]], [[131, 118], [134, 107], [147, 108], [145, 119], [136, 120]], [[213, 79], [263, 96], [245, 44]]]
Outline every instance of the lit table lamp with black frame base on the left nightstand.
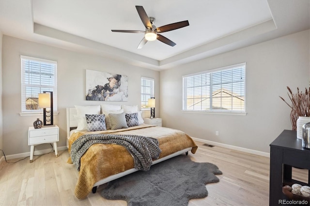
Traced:
[[[43, 126], [53, 126], [52, 91], [43, 91], [43, 93], [39, 94], [39, 108], [43, 108]], [[47, 108], [49, 108], [49, 110]]]

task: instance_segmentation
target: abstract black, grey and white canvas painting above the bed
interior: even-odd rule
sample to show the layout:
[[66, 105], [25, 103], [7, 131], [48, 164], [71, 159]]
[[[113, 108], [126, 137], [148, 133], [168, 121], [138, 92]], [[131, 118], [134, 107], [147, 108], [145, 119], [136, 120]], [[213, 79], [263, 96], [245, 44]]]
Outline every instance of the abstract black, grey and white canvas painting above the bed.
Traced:
[[128, 77], [94, 70], [86, 70], [86, 100], [128, 100]]

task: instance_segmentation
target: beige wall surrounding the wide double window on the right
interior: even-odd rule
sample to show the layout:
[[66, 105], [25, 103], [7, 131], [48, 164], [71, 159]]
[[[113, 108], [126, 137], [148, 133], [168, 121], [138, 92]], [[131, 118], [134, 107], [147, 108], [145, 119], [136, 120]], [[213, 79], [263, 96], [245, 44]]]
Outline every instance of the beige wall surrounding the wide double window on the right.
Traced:
[[[309, 87], [309, 30], [178, 66], [160, 73], [163, 126], [192, 137], [269, 152], [284, 129], [292, 129], [290, 109], [279, 99]], [[246, 116], [182, 112], [182, 75], [247, 62]], [[216, 131], [219, 135], [216, 136]]]

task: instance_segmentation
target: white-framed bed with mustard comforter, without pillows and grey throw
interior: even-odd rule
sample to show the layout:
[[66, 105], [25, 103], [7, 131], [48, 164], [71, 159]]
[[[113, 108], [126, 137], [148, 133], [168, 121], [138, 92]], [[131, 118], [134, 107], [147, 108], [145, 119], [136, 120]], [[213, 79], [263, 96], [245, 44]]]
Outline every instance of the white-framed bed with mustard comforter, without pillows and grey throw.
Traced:
[[[78, 115], [76, 108], [67, 108], [67, 147], [70, 153], [71, 146], [84, 134], [121, 134], [121, 135], [142, 135], [158, 140], [161, 153], [159, 158], [153, 160], [152, 164], [165, 161], [182, 153], [197, 150], [195, 142], [184, 132], [154, 125], [140, 124], [129, 128], [116, 130], [105, 130], [76, 132], [78, 127]], [[69, 158], [68, 163], [71, 162]], [[123, 177], [138, 171], [134, 168], [132, 155], [125, 147], [116, 144], [94, 144], [88, 148], [80, 158], [80, 170], [78, 182], [75, 188], [75, 195], [78, 199], [84, 199], [98, 186], [114, 179]]]

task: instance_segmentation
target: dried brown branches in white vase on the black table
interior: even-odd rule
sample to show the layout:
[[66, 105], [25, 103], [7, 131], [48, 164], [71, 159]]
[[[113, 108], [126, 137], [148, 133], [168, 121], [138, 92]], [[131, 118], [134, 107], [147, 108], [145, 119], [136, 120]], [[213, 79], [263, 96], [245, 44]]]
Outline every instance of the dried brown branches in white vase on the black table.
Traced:
[[287, 87], [289, 91], [287, 94], [291, 103], [287, 103], [282, 97], [283, 100], [291, 109], [291, 123], [292, 123], [292, 130], [296, 130], [297, 125], [296, 121], [299, 117], [310, 117], [310, 88], [305, 88], [305, 92], [299, 91], [297, 88], [297, 93], [293, 94], [291, 88]]

